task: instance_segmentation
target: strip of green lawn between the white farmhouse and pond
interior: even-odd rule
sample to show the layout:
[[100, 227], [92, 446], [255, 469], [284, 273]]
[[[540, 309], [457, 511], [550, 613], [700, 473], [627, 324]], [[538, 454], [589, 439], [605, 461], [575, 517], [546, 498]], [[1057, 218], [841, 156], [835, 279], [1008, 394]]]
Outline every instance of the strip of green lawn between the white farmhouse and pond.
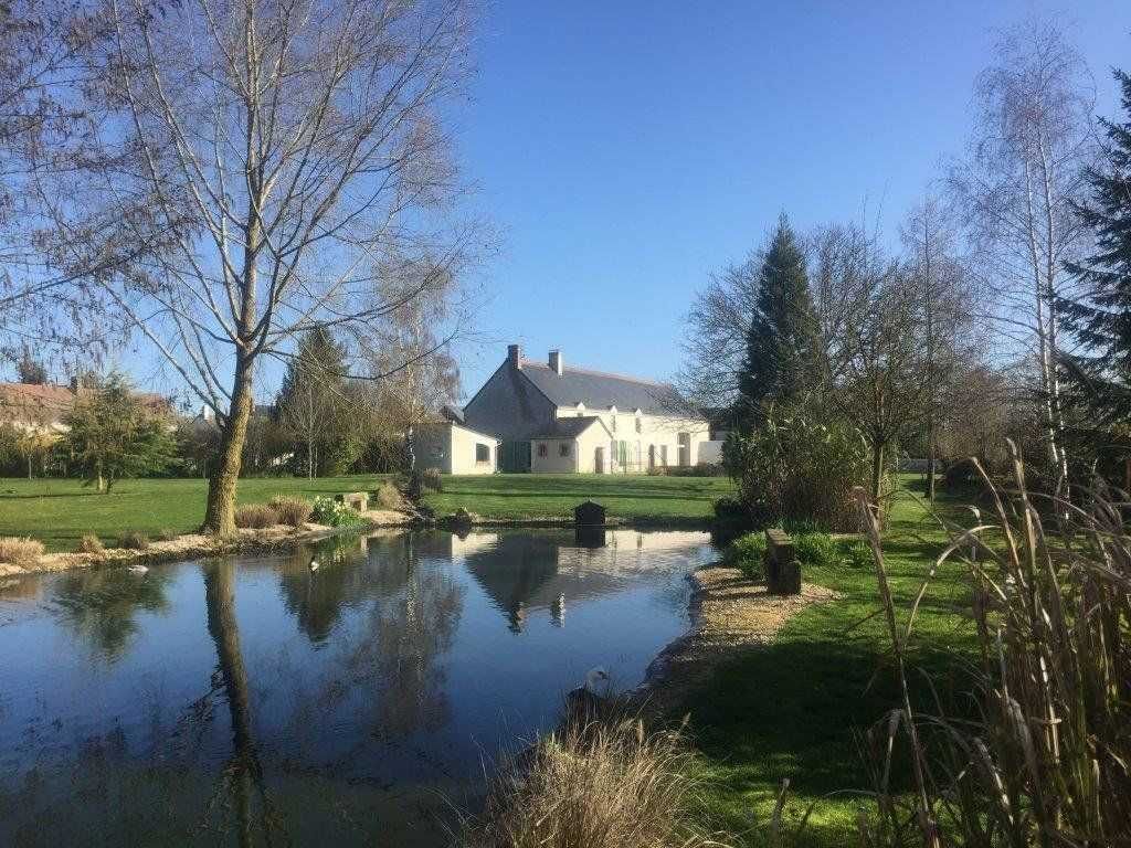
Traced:
[[484, 518], [564, 518], [594, 500], [608, 517], [639, 519], [701, 519], [718, 497], [731, 494], [727, 477], [661, 477], [610, 474], [493, 474], [446, 476], [443, 492], [425, 502], [438, 514], [458, 508]]

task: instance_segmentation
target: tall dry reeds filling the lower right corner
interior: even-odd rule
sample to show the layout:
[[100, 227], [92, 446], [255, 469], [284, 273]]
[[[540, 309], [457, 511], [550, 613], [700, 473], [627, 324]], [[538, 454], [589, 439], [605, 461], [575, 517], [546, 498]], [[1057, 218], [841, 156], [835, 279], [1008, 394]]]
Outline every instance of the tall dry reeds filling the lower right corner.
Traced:
[[[992, 507], [935, 563], [959, 560], [972, 579], [978, 659], [975, 709], [962, 716], [912, 708], [918, 681], [904, 649], [930, 580], [898, 624], [880, 535], [857, 493], [904, 687], [867, 737], [877, 815], [861, 817], [865, 846], [1131, 845], [1128, 499], [1102, 483], [1072, 503], [1041, 496], [1016, 449], [1012, 465], [1005, 491], [975, 462]], [[893, 789], [893, 772], [909, 775], [914, 791]]]

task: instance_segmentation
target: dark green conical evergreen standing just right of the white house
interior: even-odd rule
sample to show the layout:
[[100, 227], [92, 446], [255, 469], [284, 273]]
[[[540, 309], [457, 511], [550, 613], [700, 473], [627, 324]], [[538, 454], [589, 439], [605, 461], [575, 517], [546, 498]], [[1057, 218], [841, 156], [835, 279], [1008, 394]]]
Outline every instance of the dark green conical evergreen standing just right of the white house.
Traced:
[[741, 430], [756, 426], [768, 404], [802, 398], [815, 374], [817, 337], [805, 257], [783, 213], [762, 260], [739, 377], [735, 417]]

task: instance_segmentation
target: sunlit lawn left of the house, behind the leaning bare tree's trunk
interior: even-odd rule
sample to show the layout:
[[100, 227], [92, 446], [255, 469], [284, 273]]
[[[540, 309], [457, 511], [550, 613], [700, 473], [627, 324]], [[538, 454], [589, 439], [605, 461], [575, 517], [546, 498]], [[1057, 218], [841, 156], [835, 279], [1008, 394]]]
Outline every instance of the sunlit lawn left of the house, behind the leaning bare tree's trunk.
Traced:
[[[379, 475], [351, 477], [269, 477], [241, 479], [240, 503], [269, 501], [276, 494], [313, 499], [340, 492], [369, 492]], [[124, 479], [110, 494], [74, 479], [0, 478], [0, 536], [31, 536], [48, 551], [72, 551], [87, 533], [112, 545], [120, 533], [154, 536], [162, 530], [192, 533], [205, 517], [205, 479]]]

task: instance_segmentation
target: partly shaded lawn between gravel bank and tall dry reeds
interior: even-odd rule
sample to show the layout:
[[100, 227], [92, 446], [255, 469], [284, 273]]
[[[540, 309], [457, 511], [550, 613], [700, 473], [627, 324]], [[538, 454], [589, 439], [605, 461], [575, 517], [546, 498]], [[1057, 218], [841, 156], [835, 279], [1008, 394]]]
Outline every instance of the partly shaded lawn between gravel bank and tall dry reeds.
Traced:
[[[958, 504], [936, 504], [940, 514], [961, 520]], [[884, 551], [904, 622], [943, 539], [923, 503], [901, 492]], [[930, 670], [948, 700], [975, 644], [961, 613], [969, 598], [964, 573], [961, 565], [943, 566], [920, 607], [909, 646], [912, 668]], [[708, 778], [708, 812], [717, 824], [746, 832], [751, 846], [765, 843], [783, 778], [789, 779], [787, 830], [815, 802], [800, 845], [857, 845], [861, 801], [851, 791], [871, 788], [862, 734], [899, 702], [874, 571], [810, 569], [804, 579], [843, 597], [797, 615], [774, 642], [719, 669], [685, 704]], [[912, 678], [913, 698], [930, 708], [922, 676], [912, 670]], [[897, 750], [897, 759], [905, 753]], [[897, 772], [900, 777], [906, 773]], [[838, 795], [828, 797], [831, 793]]]

